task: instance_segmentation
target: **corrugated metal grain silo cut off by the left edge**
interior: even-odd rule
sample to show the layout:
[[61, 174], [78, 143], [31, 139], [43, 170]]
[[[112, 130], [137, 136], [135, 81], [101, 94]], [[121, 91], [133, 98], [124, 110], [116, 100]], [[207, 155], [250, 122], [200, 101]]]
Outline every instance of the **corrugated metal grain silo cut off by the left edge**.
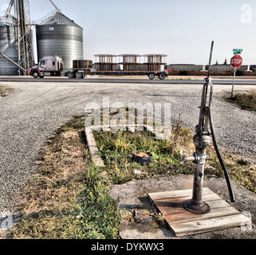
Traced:
[[[18, 63], [17, 20], [10, 14], [0, 17], [0, 53]], [[18, 67], [0, 55], [0, 75], [18, 75]]]

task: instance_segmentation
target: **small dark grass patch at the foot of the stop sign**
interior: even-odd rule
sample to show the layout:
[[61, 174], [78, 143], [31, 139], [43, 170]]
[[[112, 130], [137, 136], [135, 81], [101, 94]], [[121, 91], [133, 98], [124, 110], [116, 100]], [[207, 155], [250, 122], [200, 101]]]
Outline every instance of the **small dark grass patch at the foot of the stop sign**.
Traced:
[[237, 104], [242, 109], [256, 111], [256, 91], [236, 93], [233, 98], [226, 98], [226, 101], [232, 104]]

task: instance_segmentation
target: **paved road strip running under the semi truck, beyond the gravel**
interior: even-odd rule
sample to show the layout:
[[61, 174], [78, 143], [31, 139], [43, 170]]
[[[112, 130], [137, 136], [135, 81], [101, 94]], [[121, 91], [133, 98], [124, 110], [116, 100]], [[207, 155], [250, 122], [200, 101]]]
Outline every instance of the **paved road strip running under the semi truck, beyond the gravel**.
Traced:
[[[54, 82], [54, 83], [114, 83], [114, 84], [203, 84], [202, 79], [192, 79], [192, 80], [176, 80], [168, 78], [166, 80], [149, 80], [149, 79], [119, 79], [119, 78], [85, 78], [85, 79], [69, 79], [68, 77], [45, 77], [44, 79], [34, 79], [33, 77], [0, 77], [1, 81], [12, 81], [12, 82]], [[215, 85], [219, 84], [233, 84], [233, 79], [213, 79]], [[256, 85], [256, 80], [235, 80], [237, 85]]]

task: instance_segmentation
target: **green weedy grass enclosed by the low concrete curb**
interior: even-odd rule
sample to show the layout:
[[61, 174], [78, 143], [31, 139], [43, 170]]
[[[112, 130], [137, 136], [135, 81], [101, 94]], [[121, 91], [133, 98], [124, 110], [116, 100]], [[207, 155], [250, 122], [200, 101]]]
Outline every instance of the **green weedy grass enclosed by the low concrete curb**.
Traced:
[[[185, 130], [185, 129], [183, 129]], [[188, 132], [188, 131], [187, 131]], [[190, 175], [191, 166], [181, 167], [178, 161], [181, 150], [174, 149], [175, 143], [167, 140], [156, 140], [148, 131], [110, 131], [94, 132], [96, 145], [104, 161], [110, 182], [120, 184], [132, 179], [153, 178], [159, 175]], [[187, 136], [179, 135], [179, 146], [186, 147]], [[152, 156], [149, 165], [141, 165], [131, 161], [132, 152], [148, 153]], [[140, 171], [141, 175], [136, 175]]]

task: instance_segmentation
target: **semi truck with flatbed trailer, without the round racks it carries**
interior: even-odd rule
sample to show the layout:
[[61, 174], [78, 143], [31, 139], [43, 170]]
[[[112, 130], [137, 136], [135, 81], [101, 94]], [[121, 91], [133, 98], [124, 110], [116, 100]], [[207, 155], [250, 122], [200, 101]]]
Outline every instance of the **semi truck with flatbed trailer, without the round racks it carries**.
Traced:
[[148, 76], [153, 80], [159, 77], [164, 80], [168, 73], [165, 71], [96, 71], [93, 68], [93, 61], [90, 60], [74, 60], [73, 68], [68, 72], [64, 72], [64, 63], [61, 57], [43, 57], [40, 59], [39, 64], [30, 68], [30, 76], [35, 79], [44, 77], [60, 77], [65, 75], [69, 79], [83, 79], [87, 75], [101, 75], [101, 76]]

